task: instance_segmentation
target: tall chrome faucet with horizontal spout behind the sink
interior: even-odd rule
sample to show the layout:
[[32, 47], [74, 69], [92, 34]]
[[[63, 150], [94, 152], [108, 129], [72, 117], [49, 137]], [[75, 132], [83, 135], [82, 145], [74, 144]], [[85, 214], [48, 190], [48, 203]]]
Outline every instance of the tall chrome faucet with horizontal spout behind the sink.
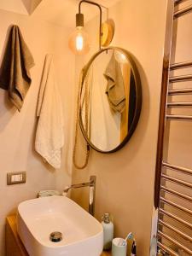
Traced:
[[67, 187], [64, 189], [64, 193], [67, 193], [70, 189], [79, 189], [84, 187], [90, 187], [89, 212], [94, 216], [96, 203], [96, 176], [90, 176], [90, 182], [88, 183], [73, 184], [70, 187]]

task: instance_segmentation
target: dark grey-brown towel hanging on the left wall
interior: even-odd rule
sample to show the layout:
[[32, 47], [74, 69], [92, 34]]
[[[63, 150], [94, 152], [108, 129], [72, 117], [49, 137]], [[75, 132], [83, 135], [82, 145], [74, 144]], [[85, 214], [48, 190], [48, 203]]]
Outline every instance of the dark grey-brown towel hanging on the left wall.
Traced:
[[12, 26], [0, 68], [0, 87], [9, 91], [9, 100], [19, 111], [32, 83], [29, 71], [34, 65], [20, 28]]

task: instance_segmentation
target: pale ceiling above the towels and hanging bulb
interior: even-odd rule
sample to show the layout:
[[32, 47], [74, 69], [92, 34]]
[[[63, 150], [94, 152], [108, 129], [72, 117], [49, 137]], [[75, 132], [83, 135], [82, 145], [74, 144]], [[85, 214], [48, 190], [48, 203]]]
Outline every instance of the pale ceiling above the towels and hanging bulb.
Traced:
[[[80, 0], [0, 0], [0, 9], [22, 15], [32, 15], [59, 26], [74, 27], [75, 14], [78, 12]], [[120, 0], [96, 0], [106, 7]], [[104, 9], [103, 9], [104, 10]], [[82, 4], [85, 22], [98, 14], [98, 9], [90, 4]]]

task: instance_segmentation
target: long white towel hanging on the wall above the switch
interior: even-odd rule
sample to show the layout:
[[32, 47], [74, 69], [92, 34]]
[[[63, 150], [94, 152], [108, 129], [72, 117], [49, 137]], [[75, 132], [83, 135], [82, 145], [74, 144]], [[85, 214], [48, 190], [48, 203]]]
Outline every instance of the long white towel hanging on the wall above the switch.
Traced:
[[38, 97], [38, 127], [35, 149], [49, 165], [61, 167], [61, 148], [64, 144], [61, 96], [55, 81], [51, 55], [46, 55]]

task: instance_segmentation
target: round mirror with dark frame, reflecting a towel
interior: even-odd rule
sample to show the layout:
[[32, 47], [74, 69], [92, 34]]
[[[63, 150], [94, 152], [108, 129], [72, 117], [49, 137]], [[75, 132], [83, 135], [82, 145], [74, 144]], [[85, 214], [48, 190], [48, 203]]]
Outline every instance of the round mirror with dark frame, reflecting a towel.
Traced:
[[142, 106], [137, 67], [125, 49], [109, 47], [84, 67], [79, 122], [90, 147], [101, 153], [122, 148], [135, 131]]

